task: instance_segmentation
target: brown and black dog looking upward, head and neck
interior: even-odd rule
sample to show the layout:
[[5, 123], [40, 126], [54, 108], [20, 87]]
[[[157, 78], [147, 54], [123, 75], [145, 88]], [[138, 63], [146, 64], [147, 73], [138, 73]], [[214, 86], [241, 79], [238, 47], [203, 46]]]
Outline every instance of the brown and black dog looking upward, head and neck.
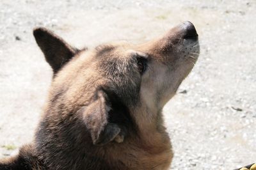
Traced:
[[200, 51], [191, 22], [140, 45], [76, 49], [44, 27], [36, 43], [52, 68], [35, 139], [0, 169], [168, 169], [162, 109]]

